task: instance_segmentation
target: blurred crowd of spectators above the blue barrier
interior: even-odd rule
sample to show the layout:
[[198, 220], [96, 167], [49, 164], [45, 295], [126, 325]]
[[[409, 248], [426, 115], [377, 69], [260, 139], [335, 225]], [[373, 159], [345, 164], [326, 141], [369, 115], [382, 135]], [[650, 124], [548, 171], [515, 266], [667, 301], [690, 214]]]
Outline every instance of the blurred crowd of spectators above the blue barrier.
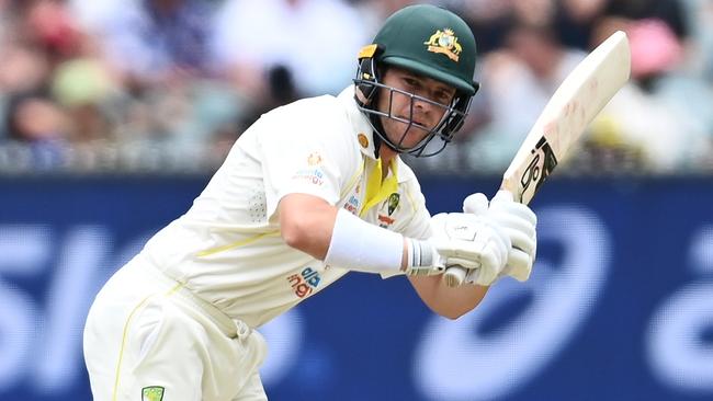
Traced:
[[[478, 43], [438, 172], [501, 172], [566, 75], [616, 30], [632, 80], [567, 171], [713, 173], [713, 1], [443, 0]], [[205, 172], [262, 113], [337, 94], [398, 0], [0, 0], [0, 174]]]

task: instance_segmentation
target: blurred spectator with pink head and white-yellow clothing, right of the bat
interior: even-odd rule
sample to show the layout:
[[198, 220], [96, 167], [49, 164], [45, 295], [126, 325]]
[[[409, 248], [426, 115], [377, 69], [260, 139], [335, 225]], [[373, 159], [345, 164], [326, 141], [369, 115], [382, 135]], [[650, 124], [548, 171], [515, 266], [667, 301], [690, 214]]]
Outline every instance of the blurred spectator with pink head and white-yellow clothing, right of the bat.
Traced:
[[658, 19], [610, 18], [601, 25], [600, 38], [615, 28], [627, 32], [632, 79], [592, 124], [592, 141], [629, 154], [646, 172], [698, 171], [713, 150], [713, 91], [681, 69], [681, 41]]

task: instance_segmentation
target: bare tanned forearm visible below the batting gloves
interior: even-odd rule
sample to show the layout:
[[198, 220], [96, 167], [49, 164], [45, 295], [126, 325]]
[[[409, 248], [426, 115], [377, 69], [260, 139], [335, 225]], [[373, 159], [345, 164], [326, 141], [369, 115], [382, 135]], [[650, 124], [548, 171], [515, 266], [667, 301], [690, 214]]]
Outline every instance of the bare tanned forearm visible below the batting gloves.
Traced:
[[475, 309], [489, 288], [474, 285], [452, 288], [445, 285], [442, 277], [442, 275], [409, 277], [409, 280], [419, 297], [433, 312], [449, 319], [457, 319]]

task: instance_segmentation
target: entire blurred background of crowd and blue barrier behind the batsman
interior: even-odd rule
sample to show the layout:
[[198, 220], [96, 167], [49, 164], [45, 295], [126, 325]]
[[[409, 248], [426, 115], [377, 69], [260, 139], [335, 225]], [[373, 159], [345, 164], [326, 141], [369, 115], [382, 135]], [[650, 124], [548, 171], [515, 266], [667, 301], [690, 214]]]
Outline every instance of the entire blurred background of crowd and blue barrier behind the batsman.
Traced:
[[[0, 0], [0, 399], [90, 400], [101, 284], [183, 213], [265, 110], [336, 93], [407, 1]], [[491, 194], [585, 51], [634, 77], [532, 206], [535, 270], [459, 321], [350, 274], [268, 324], [272, 400], [713, 398], [713, 4], [441, 1], [480, 46], [462, 137], [410, 160], [432, 213]]]

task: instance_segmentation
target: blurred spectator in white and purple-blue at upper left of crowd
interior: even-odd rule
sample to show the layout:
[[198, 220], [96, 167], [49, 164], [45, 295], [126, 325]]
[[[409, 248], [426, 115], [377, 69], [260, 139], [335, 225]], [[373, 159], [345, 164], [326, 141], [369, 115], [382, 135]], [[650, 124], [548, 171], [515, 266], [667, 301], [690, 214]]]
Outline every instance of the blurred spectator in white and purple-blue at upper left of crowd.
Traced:
[[75, 1], [73, 9], [97, 35], [127, 84], [166, 83], [211, 71], [211, 2], [104, 0], [103, 3], [103, 11], [83, 1]]

